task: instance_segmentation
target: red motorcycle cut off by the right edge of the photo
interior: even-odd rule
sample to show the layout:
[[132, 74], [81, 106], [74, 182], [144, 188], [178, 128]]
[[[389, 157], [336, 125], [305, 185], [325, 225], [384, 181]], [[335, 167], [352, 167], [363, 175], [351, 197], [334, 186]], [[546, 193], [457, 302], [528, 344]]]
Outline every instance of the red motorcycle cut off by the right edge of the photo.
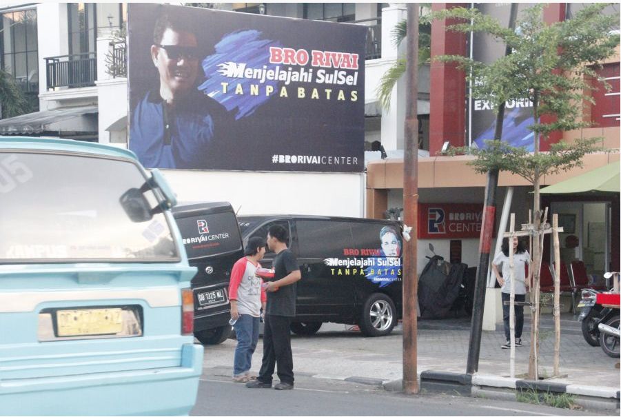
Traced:
[[597, 294], [596, 302], [603, 307], [610, 307], [610, 312], [606, 314], [598, 324], [600, 330], [600, 346], [605, 354], [612, 358], [618, 358], [620, 349], [620, 316], [619, 316], [619, 285], [618, 272], [607, 272], [604, 278], [616, 278], [613, 283], [613, 290], [607, 293]]

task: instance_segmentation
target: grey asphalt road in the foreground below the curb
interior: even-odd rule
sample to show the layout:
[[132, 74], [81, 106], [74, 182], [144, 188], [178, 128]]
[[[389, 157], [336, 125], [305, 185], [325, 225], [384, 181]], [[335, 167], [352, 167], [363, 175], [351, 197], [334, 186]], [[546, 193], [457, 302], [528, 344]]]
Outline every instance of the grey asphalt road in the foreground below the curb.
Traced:
[[418, 394], [298, 376], [296, 389], [247, 389], [205, 372], [192, 416], [593, 416], [525, 403]]

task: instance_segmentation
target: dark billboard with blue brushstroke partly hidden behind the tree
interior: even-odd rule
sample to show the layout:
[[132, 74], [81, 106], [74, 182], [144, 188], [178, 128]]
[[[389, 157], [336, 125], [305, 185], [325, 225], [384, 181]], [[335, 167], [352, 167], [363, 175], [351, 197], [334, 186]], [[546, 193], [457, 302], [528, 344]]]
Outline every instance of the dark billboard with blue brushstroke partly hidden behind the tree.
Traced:
[[[533, 4], [519, 3], [520, 11]], [[511, 3], [477, 3], [476, 8], [494, 19], [500, 21], [505, 28], [509, 27]], [[476, 32], [471, 37], [472, 58], [476, 61], [491, 63], [505, 55], [505, 45], [495, 41], [489, 34]], [[485, 148], [485, 141], [493, 139], [496, 130], [496, 112], [491, 109], [487, 101], [472, 96], [469, 105], [470, 113], [470, 143], [476, 143], [478, 148]], [[502, 123], [502, 140], [511, 146], [526, 148], [533, 151], [533, 132], [527, 126], [533, 123], [533, 103], [529, 99], [507, 101], [505, 103], [505, 119]]]

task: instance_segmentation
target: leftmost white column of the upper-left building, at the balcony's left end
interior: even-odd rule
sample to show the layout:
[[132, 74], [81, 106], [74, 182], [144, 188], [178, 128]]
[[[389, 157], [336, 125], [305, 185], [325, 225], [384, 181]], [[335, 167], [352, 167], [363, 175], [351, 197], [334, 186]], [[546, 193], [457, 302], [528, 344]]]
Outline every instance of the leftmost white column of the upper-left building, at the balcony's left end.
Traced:
[[[67, 3], [40, 3], [37, 5], [37, 41], [39, 43], [39, 94], [47, 90], [48, 79], [45, 59], [69, 53]], [[54, 102], [39, 101], [41, 110]]]

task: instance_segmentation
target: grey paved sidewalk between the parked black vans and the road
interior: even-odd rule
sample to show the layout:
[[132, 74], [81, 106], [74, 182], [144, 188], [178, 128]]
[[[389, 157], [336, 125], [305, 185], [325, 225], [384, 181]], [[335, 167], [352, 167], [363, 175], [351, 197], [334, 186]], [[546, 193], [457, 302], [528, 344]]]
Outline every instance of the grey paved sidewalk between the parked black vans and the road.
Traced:
[[[402, 330], [396, 327], [390, 336], [366, 338], [349, 331], [349, 325], [325, 323], [318, 334], [292, 336], [294, 369], [317, 378], [367, 380], [369, 383], [397, 381], [403, 377]], [[553, 369], [554, 333], [550, 315], [542, 316], [540, 339], [540, 376], [551, 376]], [[464, 374], [470, 337], [469, 318], [425, 320], [418, 322], [418, 374], [425, 371]], [[529, 360], [530, 323], [525, 317], [525, 345], [516, 349], [516, 376], [526, 378]], [[500, 349], [505, 336], [502, 329], [483, 332], [478, 377], [509, 380], [509, 349]], [[232, 368], [235, 340], [205, 347], [204, 367]], [[261, 367], [262, 341], [254, 354], [252, 372]], [[560, 378], [549, 382], [592, 387], [587, 395], [609, 395], [620, 389], [617, 358], [610, 358], [600, 347], [591, 347], [582, 338], [580, 323], [571, 314], [561, 317]], [[520, 375], [521, 374], [521, 375]], [[580, 394], [580, 393], [578, 393]]]

